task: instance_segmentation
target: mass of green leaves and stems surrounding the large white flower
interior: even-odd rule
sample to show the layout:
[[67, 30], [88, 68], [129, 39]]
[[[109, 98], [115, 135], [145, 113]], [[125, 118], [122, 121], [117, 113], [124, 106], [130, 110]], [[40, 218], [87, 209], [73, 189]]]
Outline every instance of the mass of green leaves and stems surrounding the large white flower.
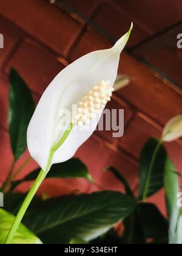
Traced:
[[[8, 230], [26, 197], [26, 194], [15, 193], [16, 188], [24, 182], [34, 182], [40, 171], [40, 168], [35, 169], [23, 179], [17, 179], [31, 160], [30, 157], [15, 169], [16, 161], [27, 149], [25, 131], [33, 115], [33, 106], [29, 87], [12, 69], [8, 120], [14, 158], [1, 188], [5, 194], [5, 205], [3, 209], [0, 208], [0, 243], [5, 242]], [[179, 126], [181, 118], [178, 116], [167, 124], [160, 140], [150, 138], [144, 145], [137, 194], [122, 173], [110, 166], [106, 171], [112, 172], [120, 180], [124, 193], [103, 191], [57, 198], [35, 196], [22, 224], [13, 235], [12, 243], [181, 244], [181, 213], [175, 203], [179, 192], [177, 172], [163, 146], [163, 141], [171, 141], [182, 135]], [[18, 135], [16, 138], [15, 134]], [[78, 158], [51, 165], [45, 179], [66, 177], [83, 177], [94, 182], [87, 166]], [[161, 189], [165, 190], [167, 218], [155, 205], [147, 202], [150, 196]], [[124, 226], [122, 233], [115, 227], [118, 222]]]

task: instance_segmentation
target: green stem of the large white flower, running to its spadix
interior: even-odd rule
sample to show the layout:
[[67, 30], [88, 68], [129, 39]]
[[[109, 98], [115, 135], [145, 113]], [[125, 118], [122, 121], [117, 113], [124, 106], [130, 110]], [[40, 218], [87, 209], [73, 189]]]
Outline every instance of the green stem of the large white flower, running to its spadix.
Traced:
[[13, 222], [13, 225], [7, 235], [7, 238], [5, 240], [5, 244], [11, 244], [13, 237], [15, 236], [16, 231], [18, 230], [19, 224], [22, 221], [22, 218], [25, 215], [25, 212], [27, 211], [27, 208], [29, 207], [30, 203], [32, 202], [33, 197], [35, 196], [36, 192], [38, 191], [39, 187], [41, 186], [42, 182], [44, 181], [45, 177], [47, 176], [47, 173], [49, 172], [51, 162], [53, 155], [55, 154], [55, 151], [60, 148], [60, 146], [66, 141], [67, 137], [69, 136], [71, 130], [73, 129], [73, 124], [70, 123], [69, 127], [67, 130], [64, 132], [62, 135], [61, 139], [58, 141], [55, 146], [50, 149], [50, 154], [49, 154], [49, 159], [47, 161], [47, 166], [45, 170], [42, 170], [39, 172], [39, 175], [37, 179], [35, 180], [35, 183], [33, 183], [32, 188], [30, 189], [29, 193], [27, 194], [27, 197], [25, 198], [25, 201], [21, 205], [21, 208], [18, 212], [18, 215], [15, 218], [15, 221]]

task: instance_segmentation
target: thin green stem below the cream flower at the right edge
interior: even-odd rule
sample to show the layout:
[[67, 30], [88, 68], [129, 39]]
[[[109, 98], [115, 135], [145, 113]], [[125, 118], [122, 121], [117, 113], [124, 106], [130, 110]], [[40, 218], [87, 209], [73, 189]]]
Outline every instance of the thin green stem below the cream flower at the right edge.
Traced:
[[150, 166], [149, 166], [149, 172], [147, 174], [146, 185], [144, 187], [143, 202], [146, 202], [146, 199], [147, 199], [147, 196], [148, 196], [149, 187], [150, 187], [150, 178], [151, 178], [151, 175], [152, 175], [153, 166], [155, 165], [155, 160], [156, 160], [156, 157], [157, 157], [158, 150], [160, 149], [161, 143], [162, 143], [162, 140], [160, 140], [158, 142], [157, 147], [155, 148], [155, 151], [153, 152], [152, 160], [151, 160]]

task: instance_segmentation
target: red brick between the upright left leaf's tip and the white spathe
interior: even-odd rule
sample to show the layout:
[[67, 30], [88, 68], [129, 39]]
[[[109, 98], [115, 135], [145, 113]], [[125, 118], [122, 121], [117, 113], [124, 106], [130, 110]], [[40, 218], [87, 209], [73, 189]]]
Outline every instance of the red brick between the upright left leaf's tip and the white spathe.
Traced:
[[42, 94], [56, 74], [65, 67], [57, 59], [55, 54], [41, 44], [27, 39], [12, 56], [5, 71], [8, 73], [10, 68], [15, 68], [33, 91]]

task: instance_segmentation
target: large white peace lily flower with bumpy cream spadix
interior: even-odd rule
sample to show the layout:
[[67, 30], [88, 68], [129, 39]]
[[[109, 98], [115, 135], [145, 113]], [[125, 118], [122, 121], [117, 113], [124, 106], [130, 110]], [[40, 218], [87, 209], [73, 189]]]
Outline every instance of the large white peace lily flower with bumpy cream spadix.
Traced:
[[[72, 158], [96, 129], [112, 96], [120, 54], [132, 27], [111, 49], [91, 52], [67, 66], [42, 94], [27, 130], [27, 144], [30, 155], [43, 170], [48, 159], [50, 168], [53, 163]], [[62, 110], [72, 112], [73, 104], [78, 106], [75, 116], [68, 128], [62, 129]]]

